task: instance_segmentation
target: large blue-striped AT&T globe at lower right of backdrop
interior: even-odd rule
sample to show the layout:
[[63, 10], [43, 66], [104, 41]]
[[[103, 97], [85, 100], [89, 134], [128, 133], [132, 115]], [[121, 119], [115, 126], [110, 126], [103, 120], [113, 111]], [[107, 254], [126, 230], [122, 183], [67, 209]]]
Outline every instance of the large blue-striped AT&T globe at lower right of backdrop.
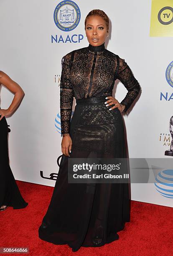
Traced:
[[173, 170], [159, 172], [155, 178], [155, 188], [163, 197], [173, 198]]

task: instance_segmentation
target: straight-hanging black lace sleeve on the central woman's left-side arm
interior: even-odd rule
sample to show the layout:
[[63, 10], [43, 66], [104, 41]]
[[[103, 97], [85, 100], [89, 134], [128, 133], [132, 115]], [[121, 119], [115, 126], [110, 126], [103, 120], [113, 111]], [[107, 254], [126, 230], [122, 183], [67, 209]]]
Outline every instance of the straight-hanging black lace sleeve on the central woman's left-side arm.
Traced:
[[61, 113], [61, 137], [69, 136], [71, 112], [73, 106], [73, 89], [70, 81], [69, 62], [71, 54], [64, 58], [60, 81], [60, 113]]

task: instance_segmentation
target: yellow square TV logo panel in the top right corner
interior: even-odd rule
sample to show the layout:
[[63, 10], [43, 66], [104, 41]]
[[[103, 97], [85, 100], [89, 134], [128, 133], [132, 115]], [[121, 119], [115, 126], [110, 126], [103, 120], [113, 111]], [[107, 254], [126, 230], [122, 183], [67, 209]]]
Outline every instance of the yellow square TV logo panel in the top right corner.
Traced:
[[173, 36], [172, 0], [152, 0], [150, 36]]

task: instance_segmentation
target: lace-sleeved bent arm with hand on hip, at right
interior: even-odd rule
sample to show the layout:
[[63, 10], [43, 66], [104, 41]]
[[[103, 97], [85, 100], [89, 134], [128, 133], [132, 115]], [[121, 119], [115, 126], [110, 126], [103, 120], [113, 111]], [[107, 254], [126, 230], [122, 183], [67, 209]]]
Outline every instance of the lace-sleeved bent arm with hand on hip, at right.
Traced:
[[140, 84], [135, 79], [135, 77], [133, 76], [132, 71], [125, 62], [125, 60], [121, 59], [119, 56], [117, 57], [117, 62], [119, 62], [117, 78], [122, 82], [122, 84], [124, 84], [128, 91], [127, 95], [120, 103], [125, 106], [125, 110], [123, 112], [127, 112], [128, 108], [130, 108], [132, 102], [139, 94], [141, 87]]

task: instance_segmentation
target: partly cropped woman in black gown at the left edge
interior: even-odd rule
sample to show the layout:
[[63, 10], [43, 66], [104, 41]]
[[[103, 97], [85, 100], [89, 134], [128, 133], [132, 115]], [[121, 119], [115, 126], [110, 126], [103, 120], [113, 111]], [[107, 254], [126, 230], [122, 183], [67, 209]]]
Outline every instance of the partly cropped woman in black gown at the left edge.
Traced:
[[15, 94], [9, 108], [0, 109], [0, 211], [4, 211], [8, 206], [12, 206], [13, 209], [25, 208], [28, 203], [20, 195], [10, 169], [8, 159], [8, 125], [5, 119], [6, 116], [12, 115], [18, 107], [24, 92], [16, 82], [2, 71], [0, 71], [0, 84], [3, 84]]

